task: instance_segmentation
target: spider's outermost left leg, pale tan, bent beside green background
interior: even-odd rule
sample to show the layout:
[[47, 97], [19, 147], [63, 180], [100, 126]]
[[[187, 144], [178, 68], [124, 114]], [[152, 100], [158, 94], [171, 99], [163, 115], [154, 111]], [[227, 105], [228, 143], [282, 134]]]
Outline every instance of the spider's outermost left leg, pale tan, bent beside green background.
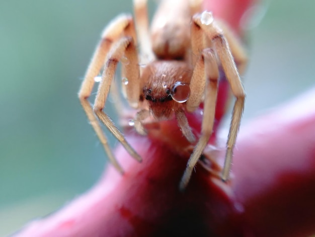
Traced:
[[102, 143], [109, 160], [120, 172], [123, 172], [123, 170], [116, 161], [111, 151], [111, 148], [109, 147], [108, 139], [102, 131], [98, 118], [94, 113], [88, 98], [92, 93], [92, 89], [95, 83], [94, 79], [99, 74], [102, 66], [104, 65], [106, 55], [110, 47], [112, 46], [112, 43], [115, 42], [119, 37], [121, 37], [121, 35], [126, 31], [126, 29], [128, 29], [128, 27], [130, 26], [130, 22], [132, 22], [132, 18], [130, 16], [121, 15], [115, 18], [105, 28], [102, 34], [102, 39], [94, 52], [91, 63], [86, 72], [85, 79], [82, 82], [81, 89], [78, 93], [78, 97], [80, 98], [81, 104], [88, 116], [88, 119], [93, 129], [95, 130], [98, 138], [100, 139], [100, 142]]

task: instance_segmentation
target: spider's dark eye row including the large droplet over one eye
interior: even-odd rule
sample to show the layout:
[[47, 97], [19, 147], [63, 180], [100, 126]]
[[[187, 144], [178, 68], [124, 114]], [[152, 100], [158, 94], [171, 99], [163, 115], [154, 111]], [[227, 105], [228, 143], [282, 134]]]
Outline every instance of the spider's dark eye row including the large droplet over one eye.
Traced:
[[165, 102], [175, 100], [178, 103], [184, 103], [189, 98], [190, 88], [188, 83], [176, 82], [174, 83], [172, 89], [168, 88], [167, 85], [164, 85], [163, 87], [165, 88], [166, 96], [162, 96], [159, 99], [152, 95], [151, 88], [144, 88], [143, 93], [145, 95], [145, 99], [150, 100], [152, 102], [156, 101]]

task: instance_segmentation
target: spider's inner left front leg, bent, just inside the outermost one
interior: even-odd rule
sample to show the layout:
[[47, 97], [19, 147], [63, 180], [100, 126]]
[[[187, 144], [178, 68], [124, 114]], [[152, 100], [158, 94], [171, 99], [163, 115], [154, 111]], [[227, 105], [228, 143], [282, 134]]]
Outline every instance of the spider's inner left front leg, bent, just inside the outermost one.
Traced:
[[[117, 64], [120, 61], [120, 58], [125, 54], [125, 51], [135, 50], [135, 46], [133, 44], [131, 37], [122, 38], [115, 47], [109, 52], [107, 62], [105, 64], [105, 69], [102, 74], [102, 81], [100, 82], [97, 96], [95, 98], [94, 103], [94, 112], [98, 116], [98, 118], [104, 123], [104, 125], [108, 128], [108, 130], [115, 136], [115, 138], [124, 146], [124, 148], [130, 153], [132, 157], [136, 160], [141, 161], [141, 157], [138, 153], [127, 143], [123, 134], [118, 130], [118, 128], [114, 125], [113, 121], [110, 117], [104, 113], [103, 108], [106, 103], [106, 99], [109, 93], [109, 89], [111, 86], [111, 82], [114, 79]], [[128, 57], [127, 57], [128, 58]], [[128, 58], [129, 60], [129, 58]], [[134, 67], [138, 67], [137, 62], [132, 62], [129, 60], [130, 65]], [[131, 66], [132, 67], [132, 66]], [[135, 69], [134, 69], [135, 70]], [[134, 85], [134, 82], [130, 80], [130, 86]], [[128, 83], [129, 86], [129, 83]], [[128, 94], [128, 93], [127, 93]]]

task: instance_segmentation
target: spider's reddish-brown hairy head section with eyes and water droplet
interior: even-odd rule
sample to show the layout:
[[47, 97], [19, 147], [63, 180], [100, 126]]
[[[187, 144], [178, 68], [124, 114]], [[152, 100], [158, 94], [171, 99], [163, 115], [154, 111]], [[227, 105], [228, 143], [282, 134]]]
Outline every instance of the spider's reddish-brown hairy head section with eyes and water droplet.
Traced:
[[157, 120], [167, 120], [174, 111], [184, 109], [190, 95], [189, 65], [181, 61], [155, 61], [142, 72], [144, 82], [140, 100], [145, 99]]

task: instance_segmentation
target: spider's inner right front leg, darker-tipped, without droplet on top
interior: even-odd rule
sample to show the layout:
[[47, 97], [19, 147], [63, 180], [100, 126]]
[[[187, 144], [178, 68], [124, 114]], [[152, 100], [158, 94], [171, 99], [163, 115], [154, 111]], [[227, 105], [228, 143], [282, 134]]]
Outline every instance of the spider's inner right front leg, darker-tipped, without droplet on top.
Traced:
[[[195, 146], [194, 151], [188, 160], [186, 170], [182, 177], [182, 180], [180, 183], [180, 190], [182, 191], [186, 188], [190, 180], [192, 171], [210, 139], [210, 136], [213, 130], [213, 124], [214, 124], [214, 114], [215, 114], [215, 105], [216, 105], [217, 89], [218, 89], [218, 77], [219, 77], [218, 66], [216, 63], [216, 57], [211, 49], [204, 49], [202, 55], [204, 58], [204, 65], [205, 65], [205, 68], [204, 68], [205, 71], [203, 71], [203, 73], [205, 73], [206, 75], [206, 80], [205, 80], [206, 88], [204, 90], [205, 99], [204, 99], [204, 111], [203, 111], [202, 126], [201, 126], [201, 137], [199, 138], [198, 143]], [[197, 81], [195, 83], [197, 83]]]

